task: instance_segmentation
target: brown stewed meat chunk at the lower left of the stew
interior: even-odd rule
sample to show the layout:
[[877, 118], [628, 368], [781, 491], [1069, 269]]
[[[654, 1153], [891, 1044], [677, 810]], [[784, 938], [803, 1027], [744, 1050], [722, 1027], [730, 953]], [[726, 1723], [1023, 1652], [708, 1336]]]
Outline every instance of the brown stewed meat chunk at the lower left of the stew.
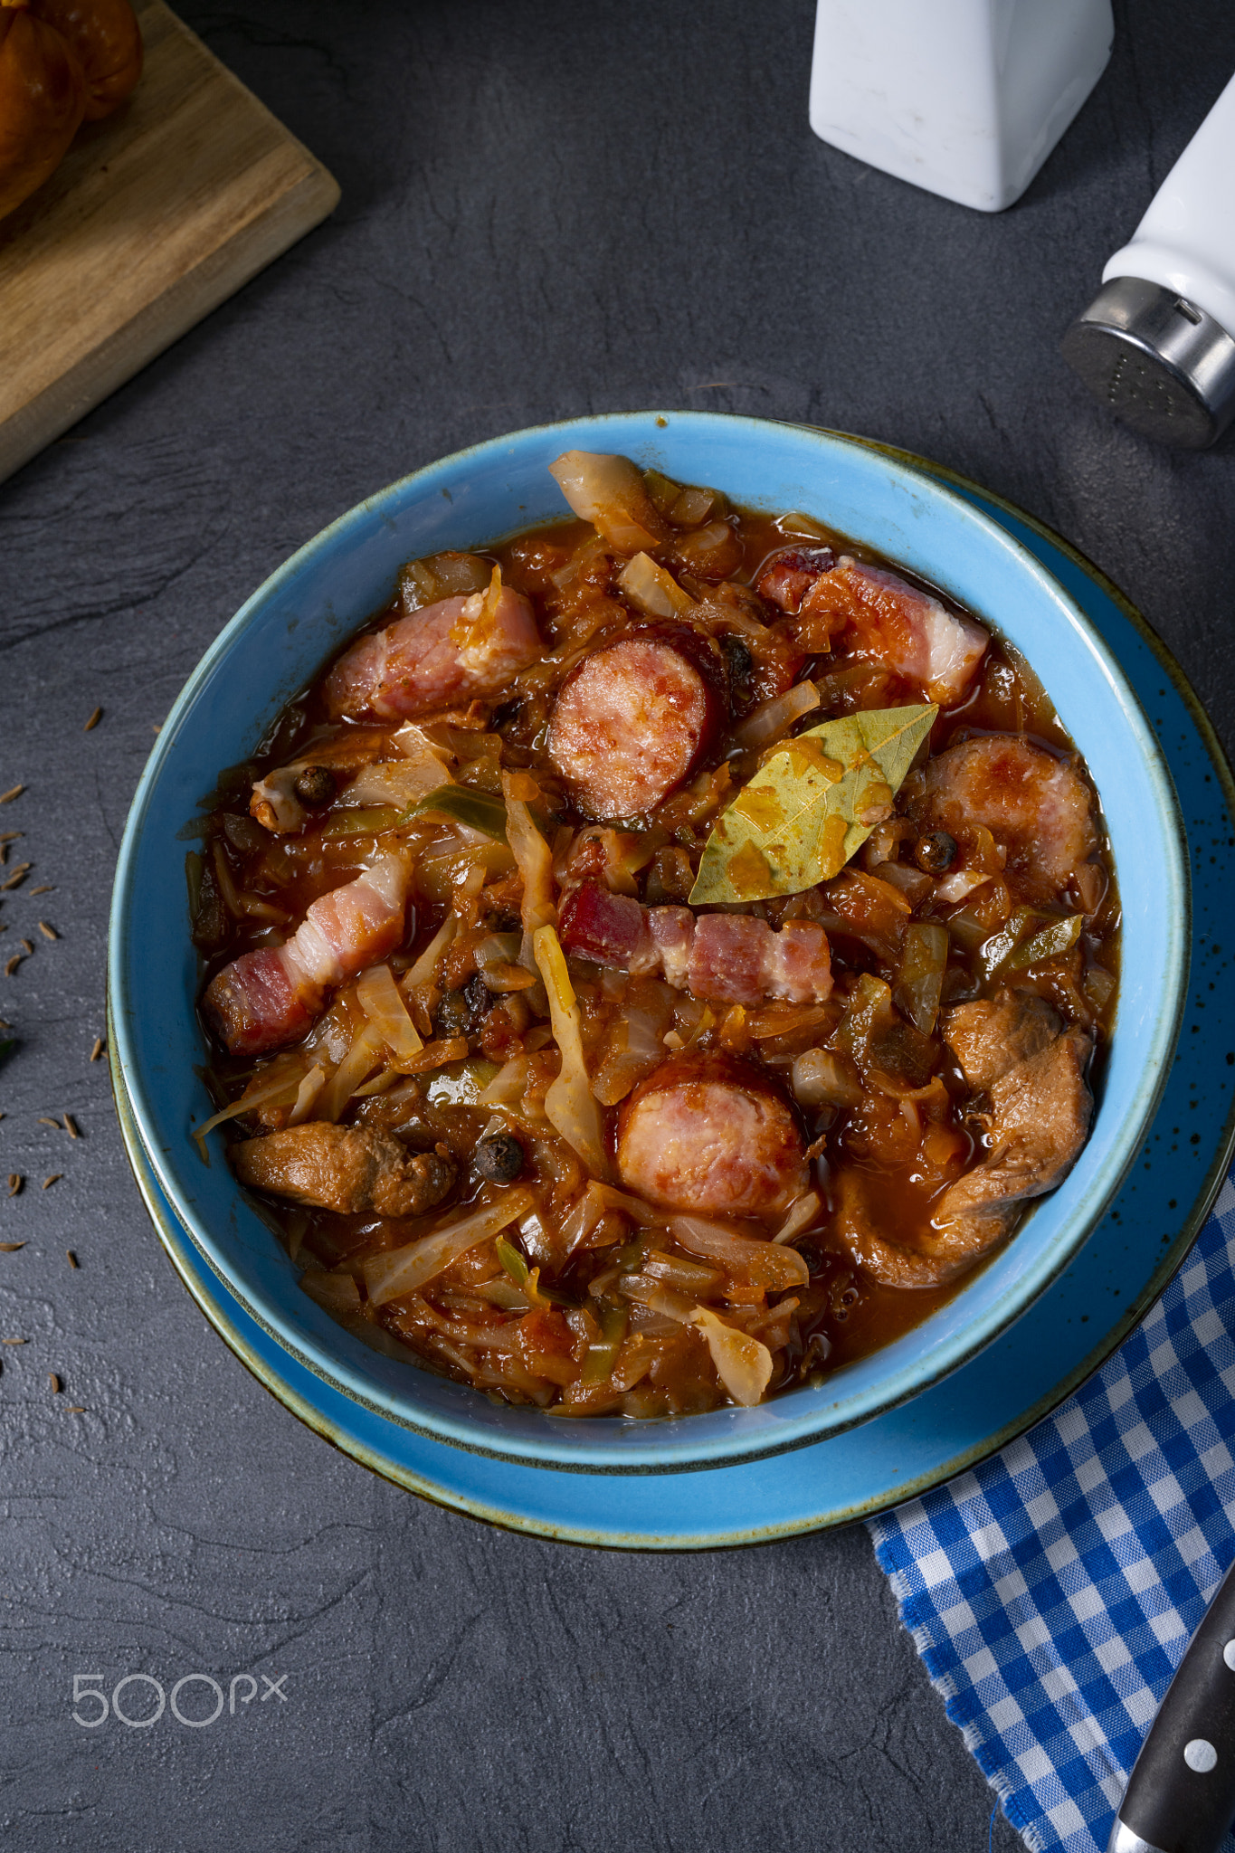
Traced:
[[424, 1216], [455, 1180], [454, 1162], [441, 1153], [409, 1153], [389, 1132], [324, 1119], [241, 1140], [228, 1158], [250, 1190], [339, 1216]]

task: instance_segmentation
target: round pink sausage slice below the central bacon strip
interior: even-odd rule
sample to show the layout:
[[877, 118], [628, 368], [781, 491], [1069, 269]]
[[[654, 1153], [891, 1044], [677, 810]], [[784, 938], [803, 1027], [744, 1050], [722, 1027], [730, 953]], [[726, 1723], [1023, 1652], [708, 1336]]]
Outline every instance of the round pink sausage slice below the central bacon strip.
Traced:
[[724, 1054], [670, 1056], [618, 1119], [618, 1171], [667, 1210], [772, 1217], [809, 1184], [798, 1123], [767, 1077]]

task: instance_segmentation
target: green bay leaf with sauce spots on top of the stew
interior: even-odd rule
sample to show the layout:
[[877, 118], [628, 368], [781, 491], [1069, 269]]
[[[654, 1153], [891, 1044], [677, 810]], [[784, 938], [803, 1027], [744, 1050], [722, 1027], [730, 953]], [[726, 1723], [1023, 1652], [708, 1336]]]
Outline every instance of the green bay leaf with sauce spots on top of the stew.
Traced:
[[939, 708], [867, 708], [776, 747], [707, 838], [691, 904], [826, 882], [889, 815]]

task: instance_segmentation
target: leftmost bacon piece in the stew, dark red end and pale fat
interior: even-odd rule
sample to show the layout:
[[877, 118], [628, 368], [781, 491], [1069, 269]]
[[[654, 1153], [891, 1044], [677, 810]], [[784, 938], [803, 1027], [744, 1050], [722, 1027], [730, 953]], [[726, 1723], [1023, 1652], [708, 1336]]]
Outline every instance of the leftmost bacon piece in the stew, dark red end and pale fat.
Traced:
[[407, 869], [381, 856], [315, 901], [291, 939], [243, 952], [206, 988], [202, 1008], [231, 1054], [263, 1054], [304, 1036], [326, 991], [393, 952], [404, 938]]

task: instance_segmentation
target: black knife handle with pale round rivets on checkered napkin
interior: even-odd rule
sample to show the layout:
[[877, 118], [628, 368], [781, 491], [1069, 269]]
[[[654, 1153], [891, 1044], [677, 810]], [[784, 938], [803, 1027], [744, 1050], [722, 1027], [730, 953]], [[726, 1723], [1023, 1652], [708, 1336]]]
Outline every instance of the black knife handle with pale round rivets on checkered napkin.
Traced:
[[[1216, 1853], [1235, 1818], [1235, 1564], [1192, 1634], [1118, 1805], [1111, 1853]], [[1120, 1833], [1122, 1829], [1122, 1833]]]

